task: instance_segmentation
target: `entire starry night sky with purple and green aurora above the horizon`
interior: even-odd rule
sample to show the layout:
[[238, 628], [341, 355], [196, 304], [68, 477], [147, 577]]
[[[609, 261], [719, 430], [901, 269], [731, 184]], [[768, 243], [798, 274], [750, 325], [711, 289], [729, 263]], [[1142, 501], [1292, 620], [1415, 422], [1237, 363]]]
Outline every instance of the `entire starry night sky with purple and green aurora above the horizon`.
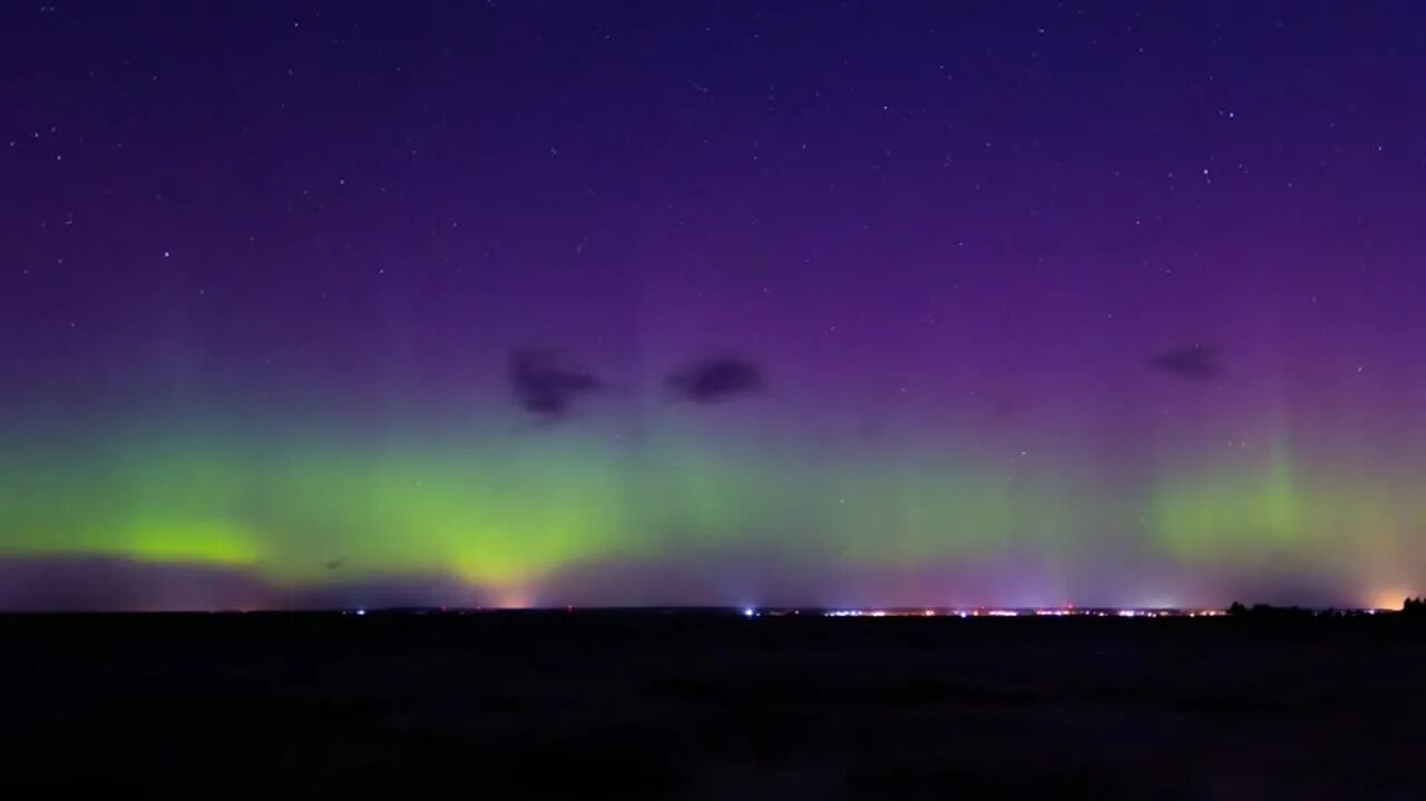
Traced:
[[7, 3], [0, 607], [1396, 606], [1412, 1]]

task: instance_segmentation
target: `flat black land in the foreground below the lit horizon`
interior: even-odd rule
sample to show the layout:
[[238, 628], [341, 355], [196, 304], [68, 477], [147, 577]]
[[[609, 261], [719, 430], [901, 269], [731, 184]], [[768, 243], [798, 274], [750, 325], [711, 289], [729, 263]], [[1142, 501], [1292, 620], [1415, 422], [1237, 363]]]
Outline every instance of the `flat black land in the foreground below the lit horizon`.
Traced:
[[0, 616], [0, 788], [1426, 798], [1409, 623]]

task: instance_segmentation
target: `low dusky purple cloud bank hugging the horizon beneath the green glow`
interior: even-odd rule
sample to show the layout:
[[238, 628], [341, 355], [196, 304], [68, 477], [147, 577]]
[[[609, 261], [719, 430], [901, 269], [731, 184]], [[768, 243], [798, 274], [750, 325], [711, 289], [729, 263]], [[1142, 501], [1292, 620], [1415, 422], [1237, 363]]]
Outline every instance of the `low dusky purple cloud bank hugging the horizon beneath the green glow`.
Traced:
[[[1101, 553], [1101, 557], [1104, 553]], [[553, 570], [522, 599], [538, 606], [1222, 606], [1362, 603], [1350, 582], [1291, 569], [1212, 576], [1161, 560], [1121, 560], [1068, 573], [1017, 556], [851, 566], [813, 550], [702, 550], [653, 560], [605, 559]], [[1132, 564], [1134, 574], [1115, 567]], [[1051, 579], [1054, 577], [1054, 579]], [[1045, 594], [1057, 586], [1057, 594]], [[287, 587], [251, 570], [111, 557], [0, 557], [0, 611], [184, 611], [261, 609], [491, 607], [502, 596], [442, 573], [364, 576]]]

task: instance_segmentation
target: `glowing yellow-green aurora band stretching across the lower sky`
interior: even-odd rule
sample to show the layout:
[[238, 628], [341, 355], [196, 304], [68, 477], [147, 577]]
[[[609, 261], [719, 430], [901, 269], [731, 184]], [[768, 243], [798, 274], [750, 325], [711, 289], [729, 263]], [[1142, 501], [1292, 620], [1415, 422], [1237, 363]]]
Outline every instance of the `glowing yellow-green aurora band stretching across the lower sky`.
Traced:
[[281, 430], [294, 433], [208, 423], [30, 438], [0, 462], [0, 553], [214, 564], [285, 586], [446, 573], [520, 593], [582, 564], [739, 549], [894, 570], [1114, 547], [1202, 572], [1346, 574], [1360, 599], [1402, 586], [1423, 557], [1410, 534], [1426, 500], [1400, 473], [1343, 477], [1286, 442], [1135, 482], [951, 443]]

